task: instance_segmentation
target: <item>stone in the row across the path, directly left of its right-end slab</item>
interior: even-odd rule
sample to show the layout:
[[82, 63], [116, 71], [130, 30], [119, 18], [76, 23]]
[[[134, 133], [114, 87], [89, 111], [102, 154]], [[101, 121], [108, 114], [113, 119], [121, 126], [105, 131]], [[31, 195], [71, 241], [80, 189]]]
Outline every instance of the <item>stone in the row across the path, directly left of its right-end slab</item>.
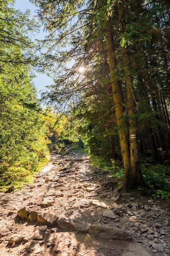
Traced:
[[59, 219], [57, 223], [62, 229], [67, 229], [70, 227], [80, 232], [88, 232], [89, 228], [91, 227], [90, 223], [75, 218], [69, 218], [67, 220], [64, 218]]

